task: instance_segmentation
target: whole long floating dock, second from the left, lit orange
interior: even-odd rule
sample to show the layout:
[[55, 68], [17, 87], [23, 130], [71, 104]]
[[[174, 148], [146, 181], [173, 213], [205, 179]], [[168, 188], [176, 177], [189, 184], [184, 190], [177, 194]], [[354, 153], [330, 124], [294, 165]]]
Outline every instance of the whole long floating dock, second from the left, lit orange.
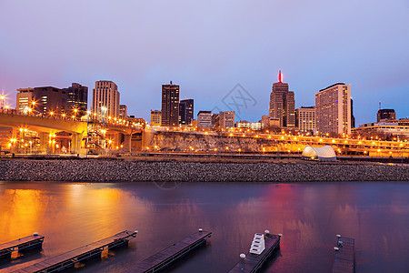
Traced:
[[53, 258], [45, 259], [30, 267], [16, 270], [19, 273], [35, 273], [35, 272], [56, 272], [65, 268], [73, 268], [75, 263], [89, 258], [95, 258], [101, 255], [106, 249], [125, 246], [128, 241], [135, 238], [137, 231], [125, 230], [109, 238], [99, 240], [97, 242], [86, 245], [82, 248], [76, 248], [64, 254]]

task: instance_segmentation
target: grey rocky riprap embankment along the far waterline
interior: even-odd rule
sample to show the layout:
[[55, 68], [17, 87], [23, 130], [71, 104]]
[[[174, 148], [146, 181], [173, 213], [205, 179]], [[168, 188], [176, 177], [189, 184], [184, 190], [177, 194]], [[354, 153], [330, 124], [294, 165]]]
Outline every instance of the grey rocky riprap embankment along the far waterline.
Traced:
[[349, 164], [0, 160], [3, 181], [409, 181], [409, 167]]

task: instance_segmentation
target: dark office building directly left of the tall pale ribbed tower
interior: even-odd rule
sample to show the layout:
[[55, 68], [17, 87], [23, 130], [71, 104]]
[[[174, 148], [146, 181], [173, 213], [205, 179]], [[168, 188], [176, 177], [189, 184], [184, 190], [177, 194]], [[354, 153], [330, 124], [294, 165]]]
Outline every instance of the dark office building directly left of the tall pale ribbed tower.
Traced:
[[80, 84], [73, 83], [68, 88], [64, 88], [66, 92], [66, 106], [70, 111], [77, 109], [81, 112], [81, 115], [85, 115], [85, 111], [88, 107], [88, 87], [81, 86]]

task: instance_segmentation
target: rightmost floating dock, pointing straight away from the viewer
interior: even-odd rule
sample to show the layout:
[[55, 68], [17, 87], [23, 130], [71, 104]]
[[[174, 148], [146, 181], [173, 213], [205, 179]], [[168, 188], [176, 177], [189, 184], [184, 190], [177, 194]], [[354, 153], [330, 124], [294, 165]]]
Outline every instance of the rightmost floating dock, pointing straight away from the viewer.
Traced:
[[333, 265], [334, 273], [347, 273], [355, 271], [355, 240], [336, 236], [335, 258]]

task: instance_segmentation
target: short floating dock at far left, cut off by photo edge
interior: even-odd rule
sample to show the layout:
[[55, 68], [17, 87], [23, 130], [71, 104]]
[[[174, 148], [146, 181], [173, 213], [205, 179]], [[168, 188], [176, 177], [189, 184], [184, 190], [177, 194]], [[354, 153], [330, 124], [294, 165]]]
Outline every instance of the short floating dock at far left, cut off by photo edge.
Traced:
[[0, 245], [0, 259], [10, 259], [11, 255], [15, 251], [30, 250], [35, 248], [42, 248], [44, 236], [38, 235], [35, 232], [34, 235], [27, 236], [25, 238], [19, 238], [14, 241], [4, 243]]

